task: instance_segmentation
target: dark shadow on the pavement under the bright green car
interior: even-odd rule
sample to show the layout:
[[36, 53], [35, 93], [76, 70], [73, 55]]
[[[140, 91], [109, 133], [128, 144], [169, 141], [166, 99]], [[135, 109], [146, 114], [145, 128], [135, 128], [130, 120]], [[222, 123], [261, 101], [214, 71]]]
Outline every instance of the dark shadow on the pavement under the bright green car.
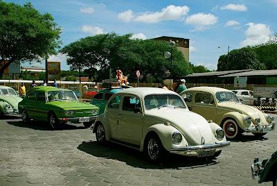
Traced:
[[7, 121], [7, 123], [12, 126], [32, 128], [34, 130], [76, 130], [84, 128], [84, 126], [71, 126], [62, 124], [60, 128], [53, 129], [49, 126], [49, 124], [43, 121], [30, 121], [28, 124], [24, 123], [23, 121]]

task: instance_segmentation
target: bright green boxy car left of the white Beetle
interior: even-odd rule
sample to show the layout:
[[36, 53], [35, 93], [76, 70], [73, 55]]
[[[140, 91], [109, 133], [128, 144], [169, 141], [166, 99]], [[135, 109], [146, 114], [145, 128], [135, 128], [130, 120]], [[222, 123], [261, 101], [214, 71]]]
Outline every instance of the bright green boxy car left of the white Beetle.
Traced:
[[24, 122], [30, 119], [48, 121], [52, 128], [61, 124], [84, 124], [90, 127], [98, 116], [98, 107], [78, 101], [72, 90], [35, 87], [19, 103]]

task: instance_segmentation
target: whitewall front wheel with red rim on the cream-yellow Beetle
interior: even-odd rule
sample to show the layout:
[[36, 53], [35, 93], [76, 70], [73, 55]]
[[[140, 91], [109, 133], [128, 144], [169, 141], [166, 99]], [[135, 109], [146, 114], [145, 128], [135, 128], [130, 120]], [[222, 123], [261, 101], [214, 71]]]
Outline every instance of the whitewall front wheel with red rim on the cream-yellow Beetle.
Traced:
[[242, 130], [233, 119], [226, 119], [222, 125], [222, 129], [228, 139], [235, 139], [242, 135]]

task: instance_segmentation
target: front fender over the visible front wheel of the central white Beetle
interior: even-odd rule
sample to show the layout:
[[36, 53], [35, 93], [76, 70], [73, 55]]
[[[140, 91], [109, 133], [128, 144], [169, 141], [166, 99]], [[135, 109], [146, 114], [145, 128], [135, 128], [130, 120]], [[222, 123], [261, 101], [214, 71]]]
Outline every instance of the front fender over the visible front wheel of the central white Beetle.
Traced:
[[[172, 148], [172, 147], [188, 146], [188, 142], [186, 141], [183, 134], [181, 134], [182, 135], [181, 143], [173, 144], [172, 134], [175, 133], [176, 131], [179, 132], [179, 130], [177, 130], [177, 128], [175, 128], [174, 126], [165, 125], [165, 124], [154, 124], [154, 125], [150, 126], [143, 135], [143, 138], [141, 140], [141, 147], [139, 150], [143, 151], [145, 137], [147, 137], [147, 135], [151, 132], [154, 132], [159, 136], [159, 139], [161, 140], [161, 144], [167, 151], [170, 151], [170, 148]], [[181, 133], [181, 132], [179, 132], [179, 133]]]

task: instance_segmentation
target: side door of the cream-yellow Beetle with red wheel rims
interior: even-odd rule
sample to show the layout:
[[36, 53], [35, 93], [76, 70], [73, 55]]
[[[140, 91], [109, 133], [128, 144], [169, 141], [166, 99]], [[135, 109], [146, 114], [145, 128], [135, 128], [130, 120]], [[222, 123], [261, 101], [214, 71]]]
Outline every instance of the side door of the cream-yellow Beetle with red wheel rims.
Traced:
[[190, 106], [190, 110], [202, 115], [205, 119], [215, 121], [217, 106], [213, 94], [208, 92], [195, 92], [194, 103]]

